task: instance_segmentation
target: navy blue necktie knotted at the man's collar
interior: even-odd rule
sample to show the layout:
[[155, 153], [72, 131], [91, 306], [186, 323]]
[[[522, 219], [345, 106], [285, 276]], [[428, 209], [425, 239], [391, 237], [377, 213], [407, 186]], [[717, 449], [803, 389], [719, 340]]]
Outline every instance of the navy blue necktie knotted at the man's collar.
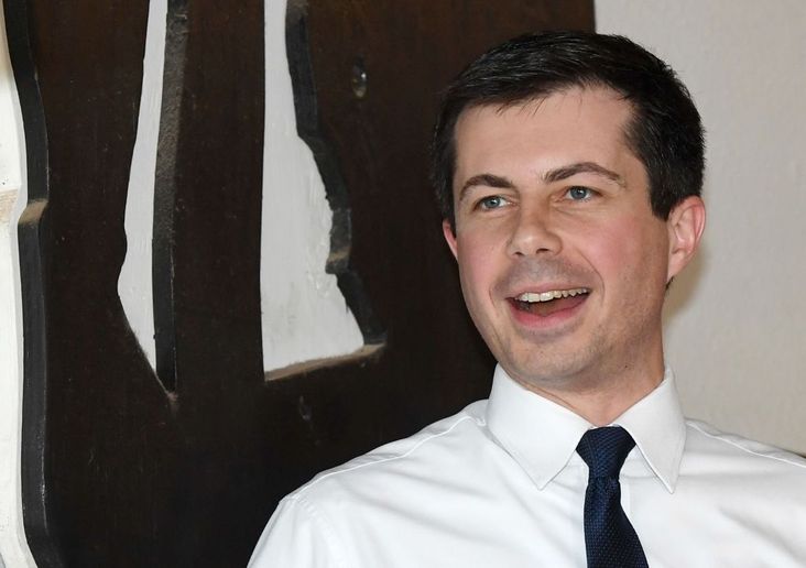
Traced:
[[646, 567], [646, 556], [635, 529], [621, 509], [619, 472], [635, 446], [621, 427], [588, 430], [577, 454], [590, 469], [585, 492], [585, 549], [588, 568]]

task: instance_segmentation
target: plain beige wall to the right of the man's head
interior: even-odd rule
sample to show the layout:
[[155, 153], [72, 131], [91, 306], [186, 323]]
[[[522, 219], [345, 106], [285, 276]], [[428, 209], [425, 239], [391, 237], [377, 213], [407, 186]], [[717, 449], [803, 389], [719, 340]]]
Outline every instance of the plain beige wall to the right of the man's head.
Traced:
[[686, 413], [806, 452], [806, 2], [598, 0], [679, 73], [708, 132], [705, 247], [666, 353]]

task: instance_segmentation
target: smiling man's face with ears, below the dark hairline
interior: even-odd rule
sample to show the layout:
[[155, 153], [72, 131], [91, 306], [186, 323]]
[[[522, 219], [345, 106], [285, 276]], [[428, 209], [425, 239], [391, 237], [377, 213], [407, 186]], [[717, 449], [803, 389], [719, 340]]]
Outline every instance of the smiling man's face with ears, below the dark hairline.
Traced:
[[663, 373], [665, 286], [688, 256], [674, 215], [652, 214], [631, 112], [612, 90], [571, 88], [459, 117], [445, 238], [476, 326], [526, 386]]

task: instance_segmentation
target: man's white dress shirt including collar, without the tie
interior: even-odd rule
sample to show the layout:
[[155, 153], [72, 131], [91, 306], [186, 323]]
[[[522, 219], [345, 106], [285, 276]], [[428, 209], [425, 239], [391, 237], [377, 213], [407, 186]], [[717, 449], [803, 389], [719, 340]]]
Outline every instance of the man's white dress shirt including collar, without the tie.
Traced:
[[[671, 371], [613, 424], [651, 567], [806, 566], [806, 460], [684, 419]], [[489, 401], [286, 496], [250, 567], [585, 567], [591, 427], [498, 368]]]

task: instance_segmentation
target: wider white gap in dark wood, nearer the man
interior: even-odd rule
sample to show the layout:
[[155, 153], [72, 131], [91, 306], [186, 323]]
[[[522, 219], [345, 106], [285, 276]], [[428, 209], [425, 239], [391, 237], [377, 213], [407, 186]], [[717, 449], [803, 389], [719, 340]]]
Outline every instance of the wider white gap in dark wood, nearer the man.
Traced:
[[265, 129], [260, 291], [263, 368], [363, 347], [336, 276], [325, 273], [333, 211], [308, 146], [296, 133], [285, 48], [285, 2], [265, 2]]

